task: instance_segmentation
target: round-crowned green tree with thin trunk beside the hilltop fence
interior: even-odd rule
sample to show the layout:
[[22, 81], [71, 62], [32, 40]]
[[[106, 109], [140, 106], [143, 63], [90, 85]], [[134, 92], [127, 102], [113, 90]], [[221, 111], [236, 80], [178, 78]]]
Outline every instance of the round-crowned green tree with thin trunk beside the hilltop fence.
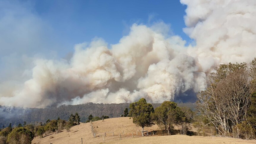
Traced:
[[152, 113], [154, 113], [154, 107], [146, 102], [146, 99], [142, 98], [138, 102], [131, 103], [130, 115], [132, 115], [132, 122], [142, 127], [142, 135], [145, 126], [152, 126]]

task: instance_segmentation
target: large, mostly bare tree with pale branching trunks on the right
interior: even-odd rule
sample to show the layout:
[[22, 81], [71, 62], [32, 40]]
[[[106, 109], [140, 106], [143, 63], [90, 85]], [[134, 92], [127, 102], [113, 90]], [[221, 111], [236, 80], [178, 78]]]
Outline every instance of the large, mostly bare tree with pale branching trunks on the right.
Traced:
[[197, 94], [197, 110], [222, 135], [246, 119], [250, 103], [250, 82], [246, 63], [221, 64], [205, 83], [205, 91]]

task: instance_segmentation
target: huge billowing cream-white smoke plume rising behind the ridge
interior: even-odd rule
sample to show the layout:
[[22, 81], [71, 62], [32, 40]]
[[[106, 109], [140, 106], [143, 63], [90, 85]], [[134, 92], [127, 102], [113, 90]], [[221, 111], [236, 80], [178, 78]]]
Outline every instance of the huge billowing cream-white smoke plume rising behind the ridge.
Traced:
[[256, 57], [256, 1], [181, 0], [187, 5], [184, 31], [196, 41], [185, 47], [169, 27], [134, 24], [118, 44], [94, 39], [75, 45], [70, 61], [34, 60], [31, 79], [0, 91], [0, 105], [48, 107], [61, 104], [123, 103], [146, 98], [174, 100], [203, 90], [206, 75], [220, 63]]

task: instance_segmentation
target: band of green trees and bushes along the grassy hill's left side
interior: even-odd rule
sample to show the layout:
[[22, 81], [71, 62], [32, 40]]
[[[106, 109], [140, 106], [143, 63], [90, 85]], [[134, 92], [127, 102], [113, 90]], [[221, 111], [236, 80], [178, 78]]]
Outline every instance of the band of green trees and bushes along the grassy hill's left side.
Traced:
[[79, 126], [80, 116], [78, 113], [69, 115], [68, 121], [57, 119], [48, 119], [44, 124], [42, 122], [35, 124], [26, 124], [12, 126], [10, 123], [7, 128], [0, 129], [0, 143], [1, 144], [31, 144], [34, 137], [47, 135], [52, 132], [62, 132], [62, 130], [70, 131], [71, 126]]

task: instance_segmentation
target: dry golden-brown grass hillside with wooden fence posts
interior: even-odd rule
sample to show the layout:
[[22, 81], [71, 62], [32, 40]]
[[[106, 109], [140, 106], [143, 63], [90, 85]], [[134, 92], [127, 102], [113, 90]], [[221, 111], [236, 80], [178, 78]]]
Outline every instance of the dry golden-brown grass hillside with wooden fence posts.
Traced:
[[[136, 126], [132, 123], [132, 118], [109, 118], [105, 119], [104, 122], [94, 121], [93, 122], [94, 132], [97, 134], [96, 138], [93, 137], [91, 132], [90, 123], [81, 123], [79, 126], [73, 126], [68, 134], [66, 130], [56, 134], [51, 133], [43, 138], [35, 137], [32, 140], [32, 144], [81, 144], [81, 138], [83, 138], [83, 144], [85, 143], [103, 143], [103, 135], [105, 143], [256, 143], [256, 140], [240, 140], [235, 138], [226, 137], [198, 137], [198, 136], [186, 136], [186, 135], [170, 135], [170, 136], [148, 136], [141, 137], [141, 127]], [[153, 131], [159, 130], [157, 125], [152, 127], [145, 127], [144, 130]], [[124, 135], [123, 135], [124, 131]], [[114, 132], [114, 136], [113, 136]], [[105, 137], [106, 133], [106, 137]], [[121, 133], [121, 139], [119, 134]], [[134, 138], [132, 138], [132, 133]]]

